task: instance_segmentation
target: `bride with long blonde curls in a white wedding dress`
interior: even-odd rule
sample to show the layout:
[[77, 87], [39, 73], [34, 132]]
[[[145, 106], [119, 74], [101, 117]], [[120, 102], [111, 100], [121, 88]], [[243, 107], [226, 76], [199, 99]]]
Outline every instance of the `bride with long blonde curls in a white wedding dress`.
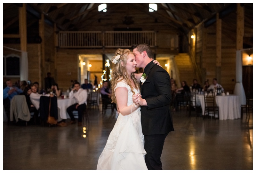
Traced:
[[147, 169], [140, 105], [132, 102], [132, 95], [140, 93], [137, 81], [141, 74], [134, 74], [137, 63], [129, 49], [117, 49], [112, 63], [115, 65], [112, 69], [111, 98], [117, 103], [120, 114], [100, 154], [97, 169]]

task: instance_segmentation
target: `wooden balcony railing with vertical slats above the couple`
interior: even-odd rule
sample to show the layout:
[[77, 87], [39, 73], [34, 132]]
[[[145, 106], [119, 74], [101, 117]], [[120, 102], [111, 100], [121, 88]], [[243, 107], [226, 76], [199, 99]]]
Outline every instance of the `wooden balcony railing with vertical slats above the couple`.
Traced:
[[[178, 42], [173, 42], [178, 40], [176, 35], [168, 35], [164, 35], [163, 41], [166, 43], [161, 40], [161, 45], [168, 46], [171, 50], [177, 49]], [[155, 31], [60, 31], [58, 34], [60, 48], [127, 48], [132, 44], [140, 43], [147, 43], [150, 47], [157, 46], [157, 33]]]

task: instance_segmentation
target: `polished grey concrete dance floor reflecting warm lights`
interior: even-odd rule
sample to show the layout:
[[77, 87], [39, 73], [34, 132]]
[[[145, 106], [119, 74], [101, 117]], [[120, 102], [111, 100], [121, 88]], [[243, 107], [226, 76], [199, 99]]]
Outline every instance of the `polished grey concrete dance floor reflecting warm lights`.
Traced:
[[[116, 115], [89, 111], [89, 123], [67, 127], [3, 124], [3, 169], [96, 169]], [[192, 114], [193, 115], [193, 114]], [[163, 169], [253, 169], [250, 119], [214, 120], [173, 112]], [[67, 120], [68, 122], [69, 120]], [[86, 136], [85, 136], [86, 135]]]

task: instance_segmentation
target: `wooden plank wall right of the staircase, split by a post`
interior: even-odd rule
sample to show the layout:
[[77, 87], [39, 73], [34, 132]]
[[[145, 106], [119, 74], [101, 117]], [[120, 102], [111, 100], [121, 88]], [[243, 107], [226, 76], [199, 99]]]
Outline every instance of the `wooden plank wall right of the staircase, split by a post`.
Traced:
[[197, 28], [196, 39], [196, 62], [202, 69], [202, 85], [204, 81], [209, 80], [212, 83], [213, 78], [217, 78], [218, 83], [224, 90], [233, 92], [236, 84], [236, 41], [225, 33], [230, 33], [225, 25], [228, 18], [222, 19], [221, 33], [221, 66], [220, 78], [218, 79], [216, 66], [216, 23], [204, 28], [203, 25]]

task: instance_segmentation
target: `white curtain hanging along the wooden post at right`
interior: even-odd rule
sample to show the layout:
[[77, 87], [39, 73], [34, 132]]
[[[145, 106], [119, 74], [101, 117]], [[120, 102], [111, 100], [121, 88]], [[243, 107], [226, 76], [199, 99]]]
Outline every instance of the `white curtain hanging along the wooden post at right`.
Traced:
[[242, 83], [242, 54], [241, 50], [236, 51], [236, 85], [234, 94], [239, 96], [240, 104], [246, 104], [246, 97], [244, 92], [244, 86]]

